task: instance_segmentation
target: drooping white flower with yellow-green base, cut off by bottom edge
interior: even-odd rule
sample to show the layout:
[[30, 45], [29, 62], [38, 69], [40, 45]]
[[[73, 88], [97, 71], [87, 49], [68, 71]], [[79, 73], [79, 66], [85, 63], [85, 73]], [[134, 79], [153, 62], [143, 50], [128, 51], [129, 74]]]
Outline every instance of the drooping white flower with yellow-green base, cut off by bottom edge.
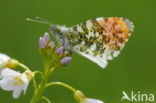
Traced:
[[104, 103], [101, 100], [93, 99], [93, 98], [87, 98], [81, 91], [77, 90], [74, 94], [75, 99], [78, 101], [78, 103]]

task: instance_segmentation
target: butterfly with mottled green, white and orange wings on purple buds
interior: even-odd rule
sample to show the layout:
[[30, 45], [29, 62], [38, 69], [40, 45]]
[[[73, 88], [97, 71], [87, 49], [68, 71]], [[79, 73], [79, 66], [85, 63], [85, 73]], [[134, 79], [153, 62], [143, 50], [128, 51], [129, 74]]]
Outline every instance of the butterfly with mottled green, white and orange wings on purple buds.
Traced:
[[133, 23], [121, 17], [98, 17], [71, 27], [50, 26], [51, 34], [66, 50], [86, 57], [101, 68], [120, 54], [133, 30]]

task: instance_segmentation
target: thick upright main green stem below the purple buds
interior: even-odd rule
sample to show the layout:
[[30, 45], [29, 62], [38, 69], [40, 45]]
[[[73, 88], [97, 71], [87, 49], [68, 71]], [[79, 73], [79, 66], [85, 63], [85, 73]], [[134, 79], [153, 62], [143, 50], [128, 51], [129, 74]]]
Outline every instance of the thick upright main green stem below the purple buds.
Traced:
[[45, 69], [44, 74], [42, 75], [42, 81], [38, 85], [37, 89], [34, 91], [34, 95], [30, 101], [30, 103], [37, 103], [40, 98], [42, 98], [42, 94], [46, 88], [46, 84], [48, 83], [48, 80], [50, 78], [50, 75], [52, 74], [54, 68], [51, 69]]

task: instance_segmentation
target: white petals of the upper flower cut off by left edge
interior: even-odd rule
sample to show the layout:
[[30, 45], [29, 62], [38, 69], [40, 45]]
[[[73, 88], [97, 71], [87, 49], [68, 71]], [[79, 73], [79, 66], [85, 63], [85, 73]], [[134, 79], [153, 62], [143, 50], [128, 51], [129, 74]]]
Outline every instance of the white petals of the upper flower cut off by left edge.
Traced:
[[10, 59], [11, 58], [9, 56], [3, 53], [0, 53], [0, 70], [6, 67]]

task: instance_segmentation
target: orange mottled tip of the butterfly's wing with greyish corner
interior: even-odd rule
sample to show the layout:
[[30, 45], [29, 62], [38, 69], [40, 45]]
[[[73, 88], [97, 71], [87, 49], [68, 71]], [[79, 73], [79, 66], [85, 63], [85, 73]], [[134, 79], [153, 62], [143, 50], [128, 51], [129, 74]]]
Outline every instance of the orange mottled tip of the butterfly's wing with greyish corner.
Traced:
[[102, 28], [103, 41], [111, 50], [121, 50], [128, 41], [134, 25], [128, 19], [109, 17], [97, 19]]

